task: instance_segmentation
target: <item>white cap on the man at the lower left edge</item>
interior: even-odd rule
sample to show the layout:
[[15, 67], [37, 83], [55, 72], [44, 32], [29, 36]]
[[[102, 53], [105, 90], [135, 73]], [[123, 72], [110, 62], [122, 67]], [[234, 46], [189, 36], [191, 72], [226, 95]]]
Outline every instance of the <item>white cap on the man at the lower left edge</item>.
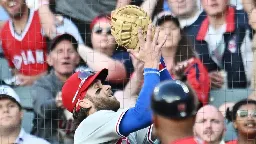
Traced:
[[0, 85], [0, 98], [8, 97], [14, 100], [19, 106], [21, 106], [20, 98], [17, 93], [7, 85]]

